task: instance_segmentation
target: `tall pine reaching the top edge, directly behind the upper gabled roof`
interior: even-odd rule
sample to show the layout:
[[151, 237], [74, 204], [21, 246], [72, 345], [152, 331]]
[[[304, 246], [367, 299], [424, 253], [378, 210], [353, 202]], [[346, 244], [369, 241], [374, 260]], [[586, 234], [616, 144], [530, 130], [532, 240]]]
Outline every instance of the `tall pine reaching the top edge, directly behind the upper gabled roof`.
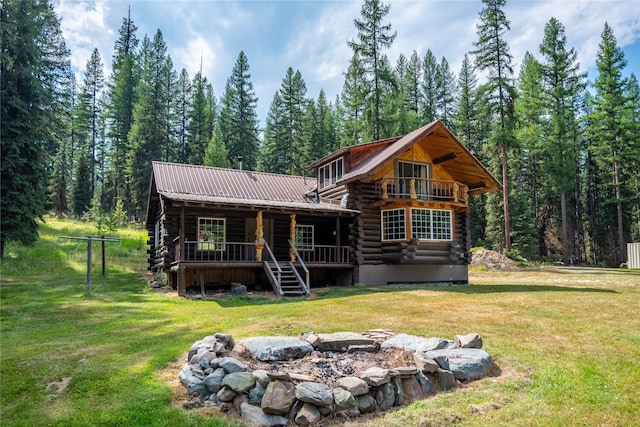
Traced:
[[358, 31], [358, 42], [350, 41], [348, 45], [357, 54], [365, 70], [364, 78], [371, 82], [371, 127], [373, 139], [379, 139], [382, 129], [382, 73], [383, 49], [389, 48], [396, 38], [397, 32], [391, 33], [391, 24], [383, 24], [382, 20], [389, 13], [390, 6], [380, 0], [365, 0], [360, 10], [362, 20], [354, 19]]

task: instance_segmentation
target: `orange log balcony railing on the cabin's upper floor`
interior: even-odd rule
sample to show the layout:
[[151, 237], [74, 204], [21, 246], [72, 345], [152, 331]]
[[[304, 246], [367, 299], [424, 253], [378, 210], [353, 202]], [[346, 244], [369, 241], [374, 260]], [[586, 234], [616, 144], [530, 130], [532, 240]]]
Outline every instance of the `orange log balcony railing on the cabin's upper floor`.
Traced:
[[376, 191], [382, 200], [438, 200], [466, 204], [469, 189], [457, 181], [393, 177], [378, 181]]

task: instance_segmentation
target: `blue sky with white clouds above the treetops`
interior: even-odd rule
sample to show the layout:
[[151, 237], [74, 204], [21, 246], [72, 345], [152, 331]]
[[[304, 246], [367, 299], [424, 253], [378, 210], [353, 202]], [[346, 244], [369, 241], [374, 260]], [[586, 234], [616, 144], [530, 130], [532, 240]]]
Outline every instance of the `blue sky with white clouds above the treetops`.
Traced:
[[[363, 1], [246, 0], [54, 0], [62, 31], [71, 50], [72, 66], [82, 78], [87, 60], [98, 48], [105, 76], [122, 19], [131, 8], [138, 38], [163, 33], [174, 67], [191, 77], [202, 67], [220, 97], [240, 51], [249, 60], [251, 80], [259, 98], [258, 118], [264, 122], [274, 93], [288, 67], [300, 70], [307, 96], [324, 89], [329, 100], [340, 93], [352, 55], [347, 40], [356, 37], [353, 20]], [[447, 58], [454, 73], [477, 39], [480, 0], [387, 0], [386, 22], [398, 36], [387, 55], [393, 64], [400, 53], [427, 49]], [[589, 79], [604, 23], [613, 28], [628, 60], [625, 74], [640, 78], [640, 1], [633, 0], [507, 0], [511, 31], [506, 34], [514, 69], [519, 72], [526, 51], [540, 57], [544, 26], [551, 17], [564, 26], [568, 46]]]

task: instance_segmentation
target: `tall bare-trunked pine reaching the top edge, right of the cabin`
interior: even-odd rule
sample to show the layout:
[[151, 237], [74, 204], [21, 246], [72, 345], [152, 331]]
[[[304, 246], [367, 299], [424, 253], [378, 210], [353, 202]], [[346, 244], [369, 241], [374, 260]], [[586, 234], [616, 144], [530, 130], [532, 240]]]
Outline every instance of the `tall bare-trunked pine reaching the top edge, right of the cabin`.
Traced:
[[[510, 29], [503, 8], [505, 0], [483, 0], [485, 8], [480, 12], [480, 23], [477, 25], [478, 41], [474, 43], [476, 50], [476, 67], [488, 73], [487, 83], [482, 86], [483, 96], [487, 100], [491, 113], [491, 135], [489, 140], [490, 167], [494, 173], [502, 176], [502, 201], [489, 196], [488, 219], [489, 230], [493, 231], [493, 240], [498, 248], [511, 250], [511, 222], [509, 217], [509, 152], [514, 149], [513, 137], [514, 112], [513, 101], [515, 89], [512, 84], [512, 55], [504, 39]], [[500, 214], [502, 211], [502, 214]], [[503, 232], [498, 233], [498, 223], [503, 223]]]

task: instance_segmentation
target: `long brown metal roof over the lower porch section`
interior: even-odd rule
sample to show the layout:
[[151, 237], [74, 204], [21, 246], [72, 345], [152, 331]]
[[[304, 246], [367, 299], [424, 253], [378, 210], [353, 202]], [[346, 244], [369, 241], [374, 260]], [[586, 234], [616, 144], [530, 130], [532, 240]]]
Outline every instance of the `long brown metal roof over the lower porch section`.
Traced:
[[306, 193], [316, 188], [316, 179], [308, 177], [153, 162], [152, 186], [164, 198], [176, 201], [312, 212], [356, 212], [335, 204], [311, 202]]

